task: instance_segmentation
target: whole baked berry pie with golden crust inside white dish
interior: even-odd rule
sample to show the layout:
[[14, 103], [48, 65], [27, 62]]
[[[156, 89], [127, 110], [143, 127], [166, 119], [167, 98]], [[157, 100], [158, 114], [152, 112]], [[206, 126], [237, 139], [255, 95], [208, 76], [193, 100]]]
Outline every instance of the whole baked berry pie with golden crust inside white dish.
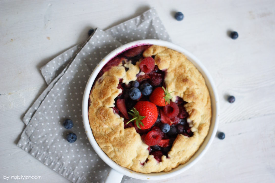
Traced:
[[182, 53], [142, 45], [101, 69], [88, 116], [114, 162], [141, 173], [167, 172], [188, 162], [204, 141], [211, 101], [201, 73]]

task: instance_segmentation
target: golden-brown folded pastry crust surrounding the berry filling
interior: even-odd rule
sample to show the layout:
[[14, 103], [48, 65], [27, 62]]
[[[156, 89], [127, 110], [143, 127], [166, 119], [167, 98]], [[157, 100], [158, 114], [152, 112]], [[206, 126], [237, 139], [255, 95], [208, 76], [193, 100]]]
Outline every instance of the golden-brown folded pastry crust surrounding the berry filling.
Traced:
[[[188, 124], [194, 133], [191, 137], [178, 135], [168, 157], [163, 155], [158, 163], [153, 155], [149, 155], [148, 146], [142, 142], [135, 128], [124, 129], [123, 118], [112, 109], [114, 99], [122, 92], [117, 88], [119, 78], [127, 84], [135, 81], [139, 62], [128, 64], [127, 72], [122, 64], [105, 72], [90, 92], [88, 109], [90, 127], [100, 148], [120, 166], [141, 173], [167, 172], [188, 162], [208, 134], [211, 120], [209, 92], [196, 67], [183, 54], [166, 47], [152, 45], [143, 53], [144, 57], [153, 55], [158, 68], [166, 70], [164, 82], [167, 90], [175, 91], [171, 93], [172, 101], [179, 96], [188, 102], [184, 106], [189, 114]], [[144, 163], [146, 159], [148, 161]]]

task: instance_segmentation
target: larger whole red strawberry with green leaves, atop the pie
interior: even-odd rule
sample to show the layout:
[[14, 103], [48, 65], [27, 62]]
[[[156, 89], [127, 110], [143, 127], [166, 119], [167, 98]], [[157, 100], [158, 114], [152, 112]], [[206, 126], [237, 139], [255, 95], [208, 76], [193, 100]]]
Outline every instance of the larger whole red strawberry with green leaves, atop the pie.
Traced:
[[148, 101], [137, 102], [133, 110], [130, 111], [129, 114], [133, 116], [133, 119], [129, 122], [135, 120], [135, 126], [142, 130], [151, 128], [158, 118], [158, 110], [155, 104]]

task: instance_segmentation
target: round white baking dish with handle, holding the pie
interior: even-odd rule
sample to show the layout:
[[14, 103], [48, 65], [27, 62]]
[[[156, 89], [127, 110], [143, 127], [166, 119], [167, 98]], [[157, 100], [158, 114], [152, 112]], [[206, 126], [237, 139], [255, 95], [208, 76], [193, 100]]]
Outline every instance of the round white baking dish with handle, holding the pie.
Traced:
[[[169, 172], [160, 172], [160, 173], [138, 173], [132, 170], [129, 170], [127, 168], [124, 168], [114, 161], [112, 161], [98, 146], [97, 142], [95, 141], [95, 138], [92, 134], [92, 130], [90, 128], [89, 124], [89, 119], [88, 119], [88, 100], [89, 100], [89, 94], [90, 90], [92, 88], [92, 85], [94, 83], [94, 80], [99, 73], [99, 71], [102, 69], [102, 67], [112, 58], [114, 58], [117, 54], [128, 50], [130, 48], [139, 46], [139, 45], [160, 45], [160, 46], [165, 46], [167, 48], [170, 48], [172, 50], [178, 51], [180, 53], [183, 53], [189, 61], [191, 61], [195, 67], [200, 71], [202, 76], [205, 79], [205, 83], [208, 87], [209, 93], [210, 93], [210, 98], [211, 98], [211, 107], [212, 107], [212, 118], [211, 118], [211, 124], [210, 124], [210, 129], [209, 133], [206, 136], [204, 142], [200, 146], [199, 150], [193, 155], [193, 157], [185, 164], [178, 166], [177, 168], [172, 169]], [[162, 40], [153, 40], [153, 39], [147, 39], [147, 40], [139, 40], [139, 41], [134, 41], [131, 43], [127, 43], [116, 50], [112, 51], [109, 53], [102, 61], [100, 61], [97, 65], [97, 67], [94, 69], [92, 72], [89, 80], [87, 81], [87, 85], [84, 91], [83, 95], [83, 103], [82, 103], [82, 115], [83, 115], [83, 123], [84, 123], [84, 128], [87, 133], [88, 139], [90, 143], [92, 144], [92, 147], [94, 148], [95, 152], [99, 155], [99, 157], [106, 163], [108, 164], [112, 170], [108, 174], [106, 181], [105, 182], [120, 182], [123, 175], [126, 175], [128, 177], [132, 177], [135, 179], [142, 179], [142, 180], [162, 180], [162, 179], [167, 179], [172, 176], [176, 176], [183, 171], [187, 170], [191, 166], [193, 166], [207, 151], [209, 148], [211, 142], [213, 141], [217, 128], [218, 128], [218, 119], [219, 119], [219, 98], [218, 98], [218, 93], [215, 87], [215, 84], [213, 82], [213, 79], [211, 78], [210, 74], [202, 65], [202, 63], [189, 51], [185, 50], [184, 48], [175, 45], [171, 42], [166, 42]]]

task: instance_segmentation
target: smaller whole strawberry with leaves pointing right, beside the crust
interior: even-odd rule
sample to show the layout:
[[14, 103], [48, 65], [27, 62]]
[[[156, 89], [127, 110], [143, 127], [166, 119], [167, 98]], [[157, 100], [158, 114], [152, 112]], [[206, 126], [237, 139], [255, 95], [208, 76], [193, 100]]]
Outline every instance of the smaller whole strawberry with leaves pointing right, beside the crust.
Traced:
[[155, 105], [166, 106], [170, 103], [170, 99], [172, 99], [170, 93], [168, 93], [164, 87], [157, 87], [150, 95], [149, 100], [150, 102], [153, 102]]

